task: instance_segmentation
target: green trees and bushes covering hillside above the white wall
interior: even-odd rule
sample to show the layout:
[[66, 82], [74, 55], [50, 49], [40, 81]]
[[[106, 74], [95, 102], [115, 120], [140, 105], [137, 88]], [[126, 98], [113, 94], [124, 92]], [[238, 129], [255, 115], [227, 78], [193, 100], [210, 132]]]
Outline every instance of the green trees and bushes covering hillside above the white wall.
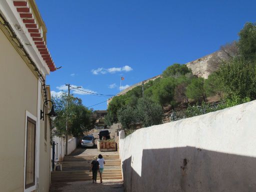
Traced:
[[[216, 70], [207, 79], [197, 77], [184, 64], [174, 63], [162, 72], [162, 78], [137, 86], [113, 97], [105, 122], [119, 121], [124, 128], [140, 123], [150, 126], [162, 122], [166, 108], [190, 117], [223, 109], [256, 98], [256, 25], [245, 23], [238, 41], [221, 46], [227, 58], [213, 59]], [[219, 104], [208, 102], [217, 96]], [[173, 115], [172, 120], [178, 119]]]

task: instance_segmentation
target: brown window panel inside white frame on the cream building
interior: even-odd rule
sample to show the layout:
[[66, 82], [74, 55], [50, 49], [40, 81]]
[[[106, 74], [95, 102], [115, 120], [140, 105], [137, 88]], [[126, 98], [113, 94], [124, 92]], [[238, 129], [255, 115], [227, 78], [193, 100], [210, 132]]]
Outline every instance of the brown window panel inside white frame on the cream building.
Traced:
[[35, 138], [36, 138], [36, 121], [27, 117], [25, 188], [29, 188], [30, 186], [35, 185]]

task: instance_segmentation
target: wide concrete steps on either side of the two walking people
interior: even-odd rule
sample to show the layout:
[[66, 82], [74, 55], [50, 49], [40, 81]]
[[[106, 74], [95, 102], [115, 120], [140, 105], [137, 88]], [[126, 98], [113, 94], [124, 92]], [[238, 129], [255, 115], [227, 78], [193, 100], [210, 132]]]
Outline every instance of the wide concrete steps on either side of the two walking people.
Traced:
[[[61, 161], [62, 171], [52, 171], [51, 181], [78, 181], [91, 180], [92, 173], [89, 172], [90, 163], [94, 155], [65, 156]], [[103, 179], [121, 179], [121, 161], [119, 155], [103, 155], [105, 160]], [[99, 179], [99, 173], [97, 174]]]

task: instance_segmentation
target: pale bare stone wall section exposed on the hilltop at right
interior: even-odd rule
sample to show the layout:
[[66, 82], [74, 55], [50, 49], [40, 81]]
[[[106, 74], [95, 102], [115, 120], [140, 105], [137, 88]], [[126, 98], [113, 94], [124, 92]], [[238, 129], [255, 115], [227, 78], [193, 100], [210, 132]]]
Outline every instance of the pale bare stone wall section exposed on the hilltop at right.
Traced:
[[219, 61], [226, 59], [228, 59], [227, 54], [222, 50], [218, 50], [196, 60], [187, 62], [186, 66], [191, 68], [192, 73], [196, 76], [208, 78], [208, 75], [217, 69]]

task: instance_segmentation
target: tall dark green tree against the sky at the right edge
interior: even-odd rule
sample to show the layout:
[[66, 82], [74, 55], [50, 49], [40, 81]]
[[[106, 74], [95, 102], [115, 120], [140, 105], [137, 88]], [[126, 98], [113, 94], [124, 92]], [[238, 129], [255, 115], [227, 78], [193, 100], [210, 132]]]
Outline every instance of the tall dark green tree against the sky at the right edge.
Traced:
[[238, 35], [239, 53], [246, 60], [256, 60], [256, 23], [246, 22]]

